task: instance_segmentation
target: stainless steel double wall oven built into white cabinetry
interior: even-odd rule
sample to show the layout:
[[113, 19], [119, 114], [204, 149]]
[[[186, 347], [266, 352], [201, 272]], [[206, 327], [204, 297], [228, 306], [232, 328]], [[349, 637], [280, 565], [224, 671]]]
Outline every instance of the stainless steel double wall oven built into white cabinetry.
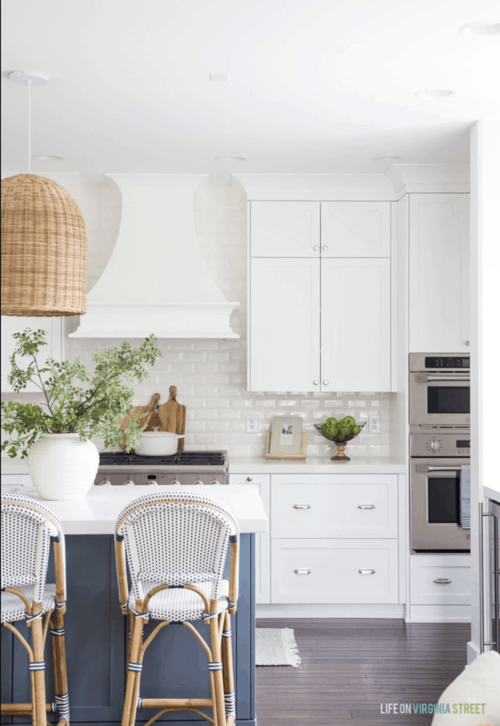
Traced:
[[411, 354], [411, 548], [470, 550], [462, 526], [462, 465], [470, 464], [470, 358]]

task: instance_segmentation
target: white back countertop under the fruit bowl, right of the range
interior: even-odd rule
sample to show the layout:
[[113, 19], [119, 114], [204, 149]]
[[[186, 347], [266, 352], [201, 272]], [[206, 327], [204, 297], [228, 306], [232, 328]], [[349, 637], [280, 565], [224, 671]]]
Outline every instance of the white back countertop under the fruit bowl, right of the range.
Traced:
[[330, 457], [307, 459], [266, 459], [266, 457], [229, 457], [230, 474], [404, 474], [403, 458], [353, 456], [351, 461], [332, 461]]

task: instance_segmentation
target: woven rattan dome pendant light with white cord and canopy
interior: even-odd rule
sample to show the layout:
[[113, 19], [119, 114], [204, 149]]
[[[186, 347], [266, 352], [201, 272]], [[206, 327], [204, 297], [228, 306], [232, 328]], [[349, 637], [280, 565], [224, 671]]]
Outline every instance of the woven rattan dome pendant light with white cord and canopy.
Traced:
[[[30, 86], [48, 78], [35, 71], [15, 71], [10, 78], [28, 86], [29, 118]], [[81, 315], [86, 311], [83, 216], [64, 187], [30, 174], [30, 160], [28, 141], [28, 174], [1, 182], [1, 314]]]

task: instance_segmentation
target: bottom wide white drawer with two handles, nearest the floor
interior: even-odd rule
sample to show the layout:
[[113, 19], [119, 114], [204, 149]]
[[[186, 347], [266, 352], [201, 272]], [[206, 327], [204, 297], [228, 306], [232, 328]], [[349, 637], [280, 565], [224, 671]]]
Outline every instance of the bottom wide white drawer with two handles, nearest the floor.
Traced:
[[397, 539], [271, 540], [271, 603], [397, 602]]

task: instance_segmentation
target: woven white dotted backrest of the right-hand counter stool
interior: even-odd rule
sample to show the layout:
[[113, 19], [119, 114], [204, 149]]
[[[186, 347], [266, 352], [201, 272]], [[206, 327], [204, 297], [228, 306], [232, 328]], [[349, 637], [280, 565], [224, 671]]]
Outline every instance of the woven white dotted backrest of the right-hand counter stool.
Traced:
[[213, 582], [221, 595], [229, 537], [239, 529], [230, 511], [201, 494], [157, 492], [134, 499], [115, 528], [124, 539], [134, 598], [144, 597], [142, 582], [171, 586]]

